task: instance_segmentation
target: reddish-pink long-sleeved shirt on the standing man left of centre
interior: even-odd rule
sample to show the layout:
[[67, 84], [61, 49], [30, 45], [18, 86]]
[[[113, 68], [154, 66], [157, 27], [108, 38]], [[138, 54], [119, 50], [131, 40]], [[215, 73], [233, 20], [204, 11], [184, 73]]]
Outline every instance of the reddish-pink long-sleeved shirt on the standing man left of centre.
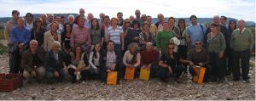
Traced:
[[70, 46], [73, 47], [74, 43], [78, 44], [90, 44], [90, 30], [87, 27], [80, 29], [79, 27], [73, 27], [70, 37]]

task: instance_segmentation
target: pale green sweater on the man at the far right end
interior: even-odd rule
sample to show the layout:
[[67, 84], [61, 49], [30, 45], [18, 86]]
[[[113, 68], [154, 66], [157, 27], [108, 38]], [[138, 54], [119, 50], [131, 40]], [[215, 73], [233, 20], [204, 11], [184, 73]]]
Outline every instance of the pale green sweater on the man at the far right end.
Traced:
[[230, 39], [230, 47], [235, 51], [245, 51], [246, 49], [253, 49], [253, 33], [245, 28], [240, 33], [239, 29], [233, 31]]

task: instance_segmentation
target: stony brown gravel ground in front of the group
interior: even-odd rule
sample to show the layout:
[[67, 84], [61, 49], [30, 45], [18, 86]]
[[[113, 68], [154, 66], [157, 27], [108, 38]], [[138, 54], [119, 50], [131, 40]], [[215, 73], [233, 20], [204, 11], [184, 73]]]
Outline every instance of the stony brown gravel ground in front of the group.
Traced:
[[[0, 72], [8, 73], [8, 55], [0, 55]], [[0, 100], [20, 99], [188, 99], [188, 100], [255, 100], [255, 68], [250, 68], [250, 82], [231, 81], [227, 76], [222, 83], [209, 82], [199, 86], [192, 82], [190, 75], [181, 76], [182, 83], [169, 81], [164, 83], [159, 79], [150, 81], [121, 80], [119, 85], [109, 86], [102, 81], [83, 81], [72, 84], [24, 84], [23, 87], [9, 93], [0, 93]]]

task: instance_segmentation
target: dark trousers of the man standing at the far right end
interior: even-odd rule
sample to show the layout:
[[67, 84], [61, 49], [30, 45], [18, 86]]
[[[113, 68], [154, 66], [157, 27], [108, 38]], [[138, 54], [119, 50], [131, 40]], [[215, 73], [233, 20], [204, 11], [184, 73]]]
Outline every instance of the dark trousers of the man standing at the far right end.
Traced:
[[249, 73], [250, 50], [234, 51], [234, 68], [232, 69], [234, 80], [240, 79], [240, 59], [242, 79], [247, 80]]

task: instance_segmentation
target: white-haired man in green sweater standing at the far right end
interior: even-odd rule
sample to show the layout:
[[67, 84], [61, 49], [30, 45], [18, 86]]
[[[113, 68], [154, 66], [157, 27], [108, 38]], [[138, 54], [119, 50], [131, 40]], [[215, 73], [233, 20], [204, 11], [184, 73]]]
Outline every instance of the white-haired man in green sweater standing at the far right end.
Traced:
[[[245, 21], [238, 21], [238, 29], [233, 31], [230, 39], [230, 48], [234, 52], [234, 67], [233, 80], [239, 81], [240, 74], [242, 74], [242, 79], [249, 82], [249, 62], [250, 54], [253, 49], [253, 33], [249, 29], [245, 28]], [[239, 61], [241, 59], [241, 73]]]

